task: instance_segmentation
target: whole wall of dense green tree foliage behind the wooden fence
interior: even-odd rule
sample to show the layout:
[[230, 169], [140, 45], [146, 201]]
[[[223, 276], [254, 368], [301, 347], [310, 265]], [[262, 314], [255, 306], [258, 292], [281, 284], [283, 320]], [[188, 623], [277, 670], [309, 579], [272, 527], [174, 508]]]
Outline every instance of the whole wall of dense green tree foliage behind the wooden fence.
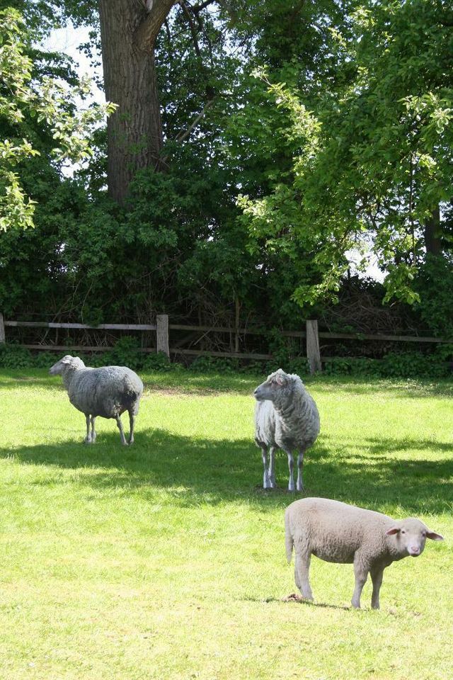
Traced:
[[[75, 137], [83, 116], [91, 125], [99, 111], [56, 90], [55, 111], [74, 125], [59, 128], [57, 113], [33, 115], [9, 91], [23, 118], [12, 136], [2, 113], [0, 138], [25, 139], [40, 155], [8, 169], [36, 228], [1, 234], [5, 314], [96, 324], [169, 312], [266, 327], [297, 327], [313, 314], [362, 328], [357, 305], [345, 303], [355, 299], [351, 287], [369, 295], [368, 283], [347, 278], [349, 252], [358, 249], [364, 265], [374, 252], [386, 271], [386, 288], [374, 287], [378, 305], [384, 295], [415, 303], [390, 327], [409, 317], [417, 325], [415, 314], [420, 326], [453, 331], [445, 321], [453, 278], [447, 4], [155, 0], [157, 30], [150, 3], [115, 2], [117, 11], [101, 4], [101, 21], [88, 0], [10, 3], [23, 13], [15, 35], [34, 96], [43, 96], [45, 77], [59, 77], [59, 88], [75, 84], [70, 60], [36, 47], [69, 18], [91, 26], [84, 49], [94, 62], [102, 50], [120, 79], [110, 72], [106, 86], [119, 104], [109, 130]], [[128, 81], [141, 73], [152, 102], [146, 88], [131, 98], [135, 86], [124, 86], [121, 67], [128, 57], [110, 54], [105, 23], [120, 30], [129, 13], [136, 32], [154, 26]], [[136, 44], [137, 34], [128, 35]], [[151, 108], [141, 108], [143, 96]], [[151, 128], [134, 127], [144, 111], [158, 143]], [[140, 141], [148, 136], [150, 146]], [[67, 152], [68, 140], [92, 151], [71, 178], [53, 152]], [[120, 188], [109, 196], [122, 162]], [[332, 295], [343, 321], [325, 306]]]

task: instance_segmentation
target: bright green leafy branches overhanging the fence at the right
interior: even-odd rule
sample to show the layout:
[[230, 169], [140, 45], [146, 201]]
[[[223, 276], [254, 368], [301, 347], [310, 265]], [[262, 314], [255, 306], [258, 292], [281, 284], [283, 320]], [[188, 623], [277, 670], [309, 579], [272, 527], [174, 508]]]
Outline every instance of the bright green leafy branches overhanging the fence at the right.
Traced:
[[[436, 1], [360, 6], [336, 33], [340, 87], [309, 111], [297, 86], [275, 83], [297, 140], [292, 171], [264, 198], [242, 198], [251, 234], [299, 261], [306, 244], [316, 271], [294, 297], [303, 305], [336, 292], [352, 248], [374, 251], [386, 269], [386, 299], [419, 299], [413, 280], [425, 252], [449, 258], [452, 188], [452, 13]], [[352, 66], [354, 69], [352, 70]], [[272, 83], [272, 84], [271, 84]], [[311, 106], [310, 106], [311, 108]]]

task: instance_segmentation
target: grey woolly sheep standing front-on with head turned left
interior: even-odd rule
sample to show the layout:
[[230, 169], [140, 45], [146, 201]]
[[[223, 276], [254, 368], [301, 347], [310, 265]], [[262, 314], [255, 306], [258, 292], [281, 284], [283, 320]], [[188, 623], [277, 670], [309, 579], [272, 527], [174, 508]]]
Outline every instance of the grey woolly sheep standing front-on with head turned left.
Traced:
[[[294, 491], [294, 449], [297, 458], [297, 491], [302, 491], [304, 453], [319, 435], [319, 412], [314, 399], [304, 387], [299, 375], [290, 375], [279, 368], [258, 385], [253, 396], [255, 409], [255, 441], [263, 454], [263, 488], [275, 487], [275, 450], [281, 448], [288, 456], [289, 491]], [[269, 450], [269, 465], [268, 465]]]

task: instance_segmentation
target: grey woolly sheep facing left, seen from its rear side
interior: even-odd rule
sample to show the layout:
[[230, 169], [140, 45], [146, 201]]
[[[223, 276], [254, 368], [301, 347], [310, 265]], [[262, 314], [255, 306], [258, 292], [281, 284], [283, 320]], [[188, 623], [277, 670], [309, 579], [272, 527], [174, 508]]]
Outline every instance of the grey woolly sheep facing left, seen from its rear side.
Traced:
[[86, 417], [85, 443], [96, 441], [96, 416], [115, 418], [121, 443], [127, 445], [120, 415], [129, 412], [129, 443], [134, 442], [134, 421], [139, 411], [143, 383], [126, 366], [88, 368], [78, 356], [64, 356], [49, 370], [50, 375], [61, 375], [69, 401]]

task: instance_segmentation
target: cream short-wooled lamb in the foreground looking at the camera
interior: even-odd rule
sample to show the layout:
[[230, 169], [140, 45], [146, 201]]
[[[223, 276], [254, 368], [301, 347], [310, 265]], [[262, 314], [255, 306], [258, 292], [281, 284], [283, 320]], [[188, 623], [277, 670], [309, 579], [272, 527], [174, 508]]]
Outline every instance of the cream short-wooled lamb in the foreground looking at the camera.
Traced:
[[418, 519], [391, 517], [328, 498], [304, 498], [285, 512], [285, 544], [288, 562], [295, 553], [296, 585], [313, 600], [309, 583], [311, 555], [326, 562], [353, 564], [355, 589], [352, 606], [360, 608], [360, 595], [371, 574], [371, 606], [379, 609], [379, 590], [385, 567], [403, 557], [423, 553], [425, 540], [443, 540]]

